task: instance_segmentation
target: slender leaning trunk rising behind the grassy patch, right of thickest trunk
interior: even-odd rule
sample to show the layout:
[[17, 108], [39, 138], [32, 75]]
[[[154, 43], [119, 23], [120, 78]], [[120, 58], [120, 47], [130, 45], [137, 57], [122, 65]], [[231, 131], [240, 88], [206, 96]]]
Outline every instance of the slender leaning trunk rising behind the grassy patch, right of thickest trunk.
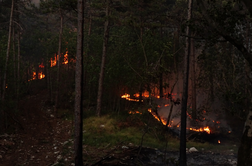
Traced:
[[[110, 0], [107, 0], [106, 18], [109, 15], [109, 3], [110, 3]], [[99, 84], [98, 84], [97, 108], [96, 108], [96, 114], [98, 117], [100, 117], [101, 115], [103, 77], [104, 77], [104, 70], [105, 70], [105, 60], [106, 60], [106, 54], [107, 54], [108, 39], [109, 39], [109, 19], [107, 18], [104, 24], [102, 62], [101, 62], [101, 70], [100, 70], [100, 77], [99, 77]]]

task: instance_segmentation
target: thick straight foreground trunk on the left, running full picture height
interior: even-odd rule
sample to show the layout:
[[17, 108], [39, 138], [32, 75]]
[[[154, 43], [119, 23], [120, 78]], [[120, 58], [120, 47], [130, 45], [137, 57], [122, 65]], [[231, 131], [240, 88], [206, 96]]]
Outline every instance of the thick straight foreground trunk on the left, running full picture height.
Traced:
[[83, 86], [83, 24], [84, 24], [84, 0], [78, 0], [78, 32], [75, 69], [75, 128], [74, 128], [74, 161], [76, 166], [83, 166], [82, 159], [82, 86]]

